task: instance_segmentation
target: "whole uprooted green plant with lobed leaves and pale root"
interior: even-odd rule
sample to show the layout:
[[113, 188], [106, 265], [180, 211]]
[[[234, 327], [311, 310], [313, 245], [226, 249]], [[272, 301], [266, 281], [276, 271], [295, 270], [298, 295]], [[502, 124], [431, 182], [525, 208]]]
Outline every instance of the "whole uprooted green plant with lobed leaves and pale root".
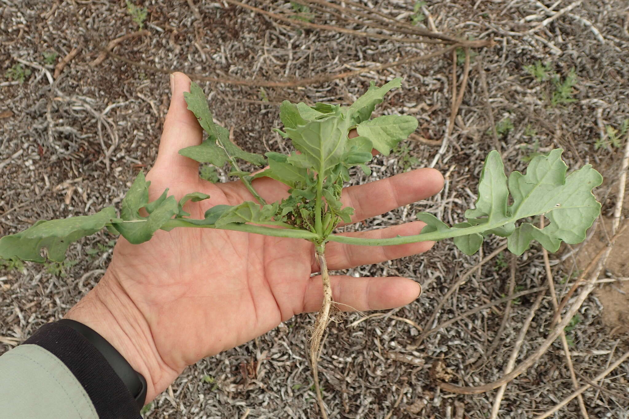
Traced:
[[[522, 254], [533, 240], [554, 252], [562, 241], [569, 244], [583, 241], [601, 209], [591, 191], [603, 178], [591, 165], [566, 176], [562, 150], [557, 149], [548, 155], [535, 156], [525, 174], [514, 171], [507, 177], [498, 151], [491, 151], [482, 168], [475, 208], [465, 212], [464, 222], [450, 227], [423, 212], [417, 217], [426, 226], [421, 234], [414, 236], [364, 239], [334, 234], [335, 227], [350, 222], [353, 214], [353, 209], [343, 207], [340, 201], [343, 184], [350, 180], [350, 168], [358, 166], [370, 173], [366, 164], [372, 160], [373, 149], [389, 155], [417, 128], [418, 122], [412, 116], [385, 115], [370, 119], [384, 95], [400, 85], [401, 79], [382, 87], [372, 85], [351, 106], [282, 102], [280, 117], [284, 131], [277, 132], [290, 139], [298, 152], [289, 155], [270, 152], [261, 156], [243, 151], [230, 141], [228, 130], [214, 123], [203, 90], [192, 84], [191, 92], [186, 94], [188, 109], [194, 112], [208, 138], [179, 153], [218, 167], [229, 163], [230, 175], [242, 180], [255, 201], [216, 205], [204, 214], [204, 219], [192, 219], [184, 204], [208, 199], [208, 195], [189, 193], [177, 201], [165, 190], [158, 199], [148, 202], [150, 182], [139, 173], [123, 199], [120, 217], [114, 207], [106, 207], [94, 215], [40, 220], [23, 232], [0, 238], [0, 258], [60, 262], [72, 242], [103, 228], [121, 234], [133, 244], [148, 241], [158, 229], [170, 231], [175, 227], [226, 229], [313, 242], [324, 300], [312, 329], [310, 358], [321, 415], [326, 417], [317, 370], [321, 337], [333, 308], [326, 242], [383, 246], [453, 238], [457, 248], [465, 254], [474, 254], [485, 236], [496, 234], [508, 237], [508, 249], [515, 254]], [[349, 138], [348, 133], [354, 128], [359, 136]], [[239, 160], [265, 168], [252, 174], [240, 168]], [[265, 202], [252, 183], [259, 177], [287, 185], [287, 196], [279, 202]], [[146, 217], [140, 214], [141, 209]], [[545, 216], [549, 223], [538, 229], [523, 221], [535, 216]]]

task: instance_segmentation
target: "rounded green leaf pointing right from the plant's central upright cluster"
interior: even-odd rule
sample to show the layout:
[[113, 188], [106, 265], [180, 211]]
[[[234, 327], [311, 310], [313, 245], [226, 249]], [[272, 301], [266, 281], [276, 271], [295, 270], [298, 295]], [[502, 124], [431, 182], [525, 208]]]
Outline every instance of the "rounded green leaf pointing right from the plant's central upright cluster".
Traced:
[[384, 115], [360, 122], [356, 130], [360, 136], [369, 138], [376, 150], [388, 156], [392, 148], [417, 129], [417, 124], [413, 116]]

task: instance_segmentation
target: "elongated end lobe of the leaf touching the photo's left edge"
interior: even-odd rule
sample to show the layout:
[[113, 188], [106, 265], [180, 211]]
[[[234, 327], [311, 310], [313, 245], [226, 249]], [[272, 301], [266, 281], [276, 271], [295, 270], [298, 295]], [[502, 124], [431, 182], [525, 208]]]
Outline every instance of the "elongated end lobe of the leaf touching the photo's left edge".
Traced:
[[19, 258], [43, 263], [42, 249], [48, 259], [61, 262], [72, 242], [91, 236], [105, 226], [120, 221], [114, 207], [106, 207], [93, 215], [81, 215], [62, 220], [40, 220], [25, 231], [0, 237], [0, 258]]

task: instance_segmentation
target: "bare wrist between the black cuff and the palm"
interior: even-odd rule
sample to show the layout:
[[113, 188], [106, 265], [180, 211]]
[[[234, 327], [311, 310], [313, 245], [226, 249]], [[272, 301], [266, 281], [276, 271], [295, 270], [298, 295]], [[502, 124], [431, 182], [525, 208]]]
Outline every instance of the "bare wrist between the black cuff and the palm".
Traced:
[[[163, 362], [150, 327], [120, 282], [108, 271], [101, 281], [72, 307], [65, 318], [95, 330], [147, 381], [149, 403], [163, 390]], [[167, 385], [167, 384], [166, 384]]]

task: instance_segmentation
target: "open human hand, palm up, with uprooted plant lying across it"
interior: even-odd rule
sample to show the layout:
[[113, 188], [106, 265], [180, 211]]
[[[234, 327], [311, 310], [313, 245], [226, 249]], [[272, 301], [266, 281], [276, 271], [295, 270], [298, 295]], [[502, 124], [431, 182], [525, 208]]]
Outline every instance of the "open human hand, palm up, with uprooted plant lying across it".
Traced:
[[[188, 202], [191, 217], [203, 219], [214, 205], [252, 200], [240, 182], [201, 180], [198, 163], [179, 155], [201, 143], [203, 131], [187, 110], [183, 92], [190, 80], [171, 77], [172, 100], [164, 122], [159, 155], [147, 179], [150, 200], [165, 188], [179, 199], [203, 192], [208, 200]], [[442, 175], [418, 169], [391, 178], [345, 188], [343, 204], [353, 207], [353, 222], [383, 214], [437, 193]], [[267, 202], [287, 195], [270, 178], [253, 186]], [[348, 236], [385, 238], [419, 234], [415, 221]], [[431, 242], [381, 248], [329, 242], [328, 268], [347, 269], [430, 249]], [[67, 314], [99, 332], [140, 372], [148, 384], [145, 403], [153, 400], [182, 370], [199, 359], [264, 334], [302, 312], [316, 312], [323, 301], [314, 246], [308, 241], [217, 229], [157, 231], [153, 239], [132, 245], [123, 238], [114, 248], [107, 272]], [[341, 309], [382, 310], [415, 300], [418, 283], [408, 278], [331, 277], [333, 299]]]

